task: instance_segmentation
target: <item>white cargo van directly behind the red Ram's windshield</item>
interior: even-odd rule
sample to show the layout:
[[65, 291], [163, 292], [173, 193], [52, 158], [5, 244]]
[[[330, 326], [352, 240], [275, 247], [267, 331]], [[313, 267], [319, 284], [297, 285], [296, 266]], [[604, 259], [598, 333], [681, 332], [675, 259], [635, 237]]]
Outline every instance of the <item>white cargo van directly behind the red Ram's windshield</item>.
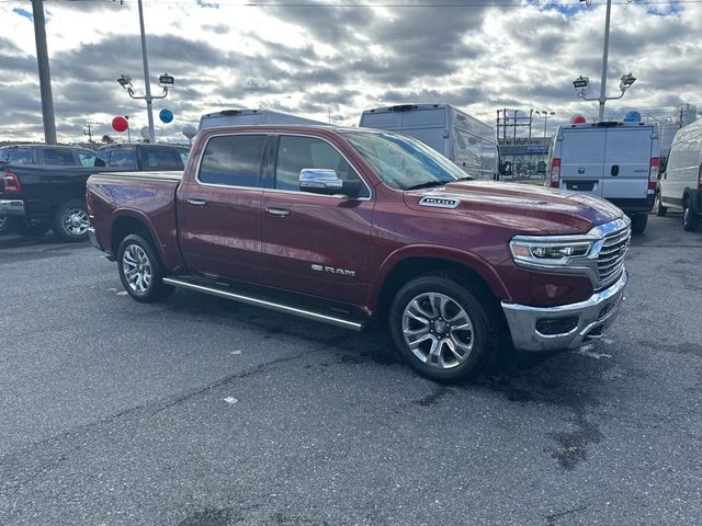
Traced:
[[421, 140], [475, 179], [497, 179], [495, 128], [450, 104], [403, 104], [365, 110], [359, 126]]

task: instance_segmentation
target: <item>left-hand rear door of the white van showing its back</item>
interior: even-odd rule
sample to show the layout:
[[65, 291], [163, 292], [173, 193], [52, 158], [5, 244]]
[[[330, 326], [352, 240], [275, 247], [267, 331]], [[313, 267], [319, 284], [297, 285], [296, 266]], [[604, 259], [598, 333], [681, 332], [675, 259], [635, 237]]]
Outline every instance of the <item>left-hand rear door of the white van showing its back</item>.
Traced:
[[561, 187], [602, 195], [604, 128], [565, 128], [561, 142]]

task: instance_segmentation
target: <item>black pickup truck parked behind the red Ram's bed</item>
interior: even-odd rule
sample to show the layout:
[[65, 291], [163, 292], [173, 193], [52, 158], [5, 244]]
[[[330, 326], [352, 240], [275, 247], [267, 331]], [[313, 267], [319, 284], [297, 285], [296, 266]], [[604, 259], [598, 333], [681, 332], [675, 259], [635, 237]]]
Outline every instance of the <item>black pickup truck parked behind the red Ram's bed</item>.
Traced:
[[180, 146], [127, 144], [98, 150], [101, 167], [35, 167], [8, 163], [2, 169], [0, 215], [7, 215], [26, 237], [49, 229], [64, 241], [88, 237], [86, 181], [98, 170], [165, 171], [183, 169], [189, 149]]

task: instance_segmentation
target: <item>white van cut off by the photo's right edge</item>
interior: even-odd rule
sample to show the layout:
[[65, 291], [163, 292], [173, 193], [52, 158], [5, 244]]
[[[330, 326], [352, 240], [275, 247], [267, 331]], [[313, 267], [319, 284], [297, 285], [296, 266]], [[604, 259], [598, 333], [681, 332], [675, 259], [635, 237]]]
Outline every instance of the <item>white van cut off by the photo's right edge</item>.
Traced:
[[658, 183], [656, 214], [682, 208], [688, 231], [700, 228], [702, 215], [702, 121], [680, 128], [672, 140], [668, 165]]

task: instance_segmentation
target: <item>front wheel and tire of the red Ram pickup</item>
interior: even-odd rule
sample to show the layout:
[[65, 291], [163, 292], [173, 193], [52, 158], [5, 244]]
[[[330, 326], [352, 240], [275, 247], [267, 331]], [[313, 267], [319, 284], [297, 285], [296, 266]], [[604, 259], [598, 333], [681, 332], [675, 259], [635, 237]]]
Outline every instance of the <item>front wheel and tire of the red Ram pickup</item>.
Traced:
[[427, 275], [395, 296], [388, 317], [393, 341], [419, 374], [464, 379], [497, 357], [501, 317], [490, 316], [494, 299], [473, 288], [454, 276]]

